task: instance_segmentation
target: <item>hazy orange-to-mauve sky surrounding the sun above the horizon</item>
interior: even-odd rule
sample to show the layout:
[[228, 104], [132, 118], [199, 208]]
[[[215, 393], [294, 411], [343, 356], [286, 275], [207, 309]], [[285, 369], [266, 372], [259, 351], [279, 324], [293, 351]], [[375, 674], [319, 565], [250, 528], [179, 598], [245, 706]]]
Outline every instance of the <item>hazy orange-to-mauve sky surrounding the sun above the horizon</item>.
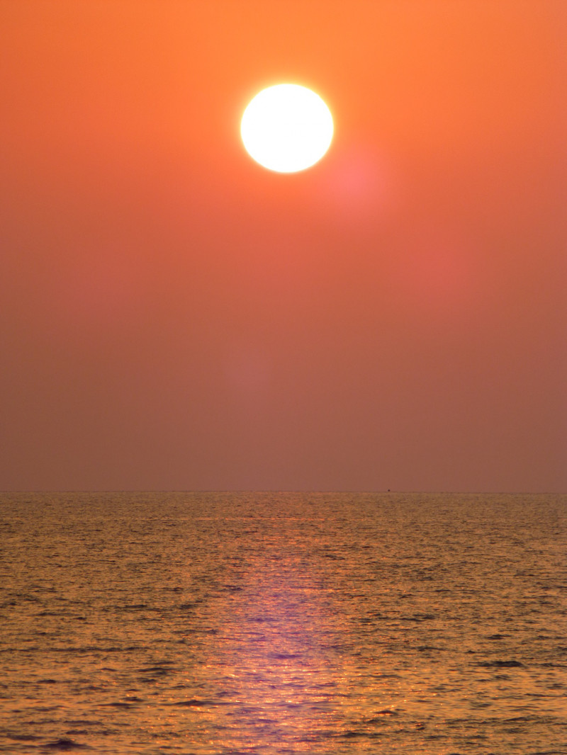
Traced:
[[[562, 0], [0, 4], [0, 488], [567, 490]], [[261, 88], [333, 112], [247, 156]]]

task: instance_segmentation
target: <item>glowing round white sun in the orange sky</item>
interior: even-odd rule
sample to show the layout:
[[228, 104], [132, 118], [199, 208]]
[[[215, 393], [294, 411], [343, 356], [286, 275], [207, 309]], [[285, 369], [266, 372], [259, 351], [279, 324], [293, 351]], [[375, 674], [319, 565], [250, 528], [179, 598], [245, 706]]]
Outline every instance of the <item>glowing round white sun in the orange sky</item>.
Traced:
[[240, 134], [246, 152], [264, 168], [296, 173], [311, 168], [329, 149], [333, 116], [311, 89], [276, 84], [250, 101]]

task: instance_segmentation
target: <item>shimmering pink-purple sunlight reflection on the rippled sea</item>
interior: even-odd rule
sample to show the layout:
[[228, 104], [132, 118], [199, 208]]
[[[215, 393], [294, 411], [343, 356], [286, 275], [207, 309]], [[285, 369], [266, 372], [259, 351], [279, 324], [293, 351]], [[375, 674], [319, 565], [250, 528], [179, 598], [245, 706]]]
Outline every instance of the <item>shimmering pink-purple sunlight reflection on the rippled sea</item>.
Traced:
[[[214, 740], [226, 732], [224, 747], [264, 751], [295, 741], [299, 750], [314, 751], [319, 739], [327, 746], [330, 732], [349, 738], [352, 720], [372, 731], [404, 702], [397, 675], [378, 674], [369, 683], [349, 661], [357, 640], [325, 587], [326, 575], [314, 572], [300, 550], [294, 553], [293, 542], [286, 538], [283, 553], [281, 545], [274, 538], [255, 557], [248, 553], [245, 586], [234, 584], [218, 602], [217, 621], [209, 617], [218, 628], [202, 648], [200, 683], [215, 685], [215, 703], [197, 698], [191, 707], [200, 711], [203, 735]], [[333, 559], [327, 554], [331, 565]]]

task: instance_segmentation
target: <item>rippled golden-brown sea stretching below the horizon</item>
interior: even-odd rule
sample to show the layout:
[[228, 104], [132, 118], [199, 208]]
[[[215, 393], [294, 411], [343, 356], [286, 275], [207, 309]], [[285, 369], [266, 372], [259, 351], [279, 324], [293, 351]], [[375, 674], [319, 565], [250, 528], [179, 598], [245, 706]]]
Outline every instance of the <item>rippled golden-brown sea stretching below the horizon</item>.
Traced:
[[567, 753], [567, 496], [0, 505], [3, 753]]

